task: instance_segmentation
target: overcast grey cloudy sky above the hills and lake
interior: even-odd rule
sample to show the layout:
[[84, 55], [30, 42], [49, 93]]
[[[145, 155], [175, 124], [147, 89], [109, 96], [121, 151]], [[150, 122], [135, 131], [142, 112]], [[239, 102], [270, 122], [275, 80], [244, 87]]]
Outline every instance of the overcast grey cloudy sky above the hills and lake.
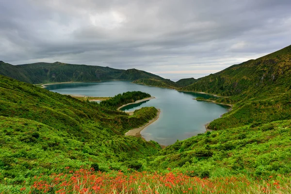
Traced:
[[0, 60], [200, 78], [291, 45], [291, 0], [0, 0]]

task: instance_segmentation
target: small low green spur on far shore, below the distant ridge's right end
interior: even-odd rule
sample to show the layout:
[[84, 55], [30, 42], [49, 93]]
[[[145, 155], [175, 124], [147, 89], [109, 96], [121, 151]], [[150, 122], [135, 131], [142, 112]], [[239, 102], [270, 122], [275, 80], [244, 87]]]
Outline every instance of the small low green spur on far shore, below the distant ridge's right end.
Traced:
[[163, 88], [177, 88], [178, 87], [178, 84], [171, 80], [139, 79], [139, 80], [133, 81], [133, 83], [139, 83], [139, 84], [163, 87]]

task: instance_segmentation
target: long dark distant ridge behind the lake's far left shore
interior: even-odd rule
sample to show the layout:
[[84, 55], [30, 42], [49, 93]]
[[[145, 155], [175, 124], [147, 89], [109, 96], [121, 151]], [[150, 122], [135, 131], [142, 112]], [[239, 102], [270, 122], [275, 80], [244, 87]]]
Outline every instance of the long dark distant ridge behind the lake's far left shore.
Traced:
[[32, 84], [68, 81], [134, 81], [142, 78], [165, 80], [160, 76], [137, 69], [123, 70], [95, 65], [74, 65], [60, 62], [11, 65], [0, 61], [0, 75]]

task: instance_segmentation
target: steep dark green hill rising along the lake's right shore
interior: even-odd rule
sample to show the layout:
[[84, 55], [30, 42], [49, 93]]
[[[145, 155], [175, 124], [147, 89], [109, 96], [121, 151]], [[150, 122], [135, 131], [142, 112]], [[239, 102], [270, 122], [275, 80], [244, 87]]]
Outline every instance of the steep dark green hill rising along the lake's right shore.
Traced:
[[291, 46], [256, 60], [232, 65], [179, 88], [225, 96], [232, 111], [212, 121], [209, 129], [239, 127], [252, 122], [291, 118]]

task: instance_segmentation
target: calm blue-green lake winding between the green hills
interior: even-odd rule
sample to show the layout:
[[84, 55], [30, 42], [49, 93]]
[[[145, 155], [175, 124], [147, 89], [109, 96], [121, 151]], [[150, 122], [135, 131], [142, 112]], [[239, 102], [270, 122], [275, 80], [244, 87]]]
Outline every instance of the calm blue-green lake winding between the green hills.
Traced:
[[177, 140], [184, 140], [205, 132], [205, 124], [227, 112], [227, 106], [210, 102], [196, 101], [194, 97], [213, 97], [210, 95], [178, 92], [176, 90], [134, 84], [130, 81], [103, 81], [94, 83], [65, 83], [48, 85], [52, 92], [92, 97], [113, 97], [127, 91], [142, 91], [155, 99], [124, 107], [133, 111], [141, 107], [154, 106], [161, 109], [160, 118], [142, 130], [142, 136], [168, 146]]

